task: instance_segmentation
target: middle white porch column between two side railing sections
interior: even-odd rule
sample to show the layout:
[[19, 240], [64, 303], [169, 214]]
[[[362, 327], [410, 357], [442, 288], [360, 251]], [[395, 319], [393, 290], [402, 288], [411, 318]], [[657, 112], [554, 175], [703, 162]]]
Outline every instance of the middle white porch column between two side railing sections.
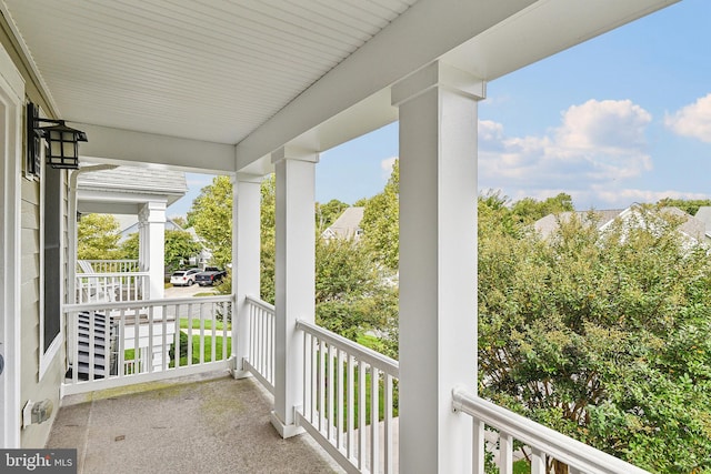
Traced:
[[272, 154], [277, 170], [276, 367], [271, 421], [282, 437], [301, 432], [294, 407], [301, 405], [303, 339], [298, 319], [314, 321], [314, 185], [319, 155], [281, 149]]

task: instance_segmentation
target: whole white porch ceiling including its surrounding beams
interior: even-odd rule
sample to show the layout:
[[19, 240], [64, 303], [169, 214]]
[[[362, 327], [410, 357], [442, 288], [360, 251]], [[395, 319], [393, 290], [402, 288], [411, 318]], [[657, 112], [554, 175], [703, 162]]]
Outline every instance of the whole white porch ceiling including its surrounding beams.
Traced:
[[442, 60], [492, 81], [677, 0], [0, 0], [51, 111], [92, 161], [271, 171], [398, 119]]

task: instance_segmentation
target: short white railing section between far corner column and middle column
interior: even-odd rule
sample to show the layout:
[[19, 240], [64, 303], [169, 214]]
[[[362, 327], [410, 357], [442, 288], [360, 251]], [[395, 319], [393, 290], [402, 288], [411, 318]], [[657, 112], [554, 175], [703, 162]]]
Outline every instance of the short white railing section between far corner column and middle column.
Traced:
[[274, 393], [274, 306], [247, 296], [249, 355], [244, 367]]

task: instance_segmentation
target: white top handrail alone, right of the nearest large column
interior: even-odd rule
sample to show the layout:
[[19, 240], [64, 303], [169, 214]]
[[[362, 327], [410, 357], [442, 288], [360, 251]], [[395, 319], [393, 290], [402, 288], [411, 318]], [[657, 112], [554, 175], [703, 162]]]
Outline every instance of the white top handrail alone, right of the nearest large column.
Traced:
[[649, 474], [600, 450], [483, 400], [465, 387], [452, 390], [452, 407], [500, 430], [524, 445], [590, 474]]

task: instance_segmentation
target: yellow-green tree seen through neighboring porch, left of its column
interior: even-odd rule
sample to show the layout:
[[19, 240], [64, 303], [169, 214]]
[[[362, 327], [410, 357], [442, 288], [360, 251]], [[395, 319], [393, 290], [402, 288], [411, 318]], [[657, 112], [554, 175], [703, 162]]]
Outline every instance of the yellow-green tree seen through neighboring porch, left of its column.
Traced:
[[79, 260], [117, 260], [121, 239], [119, 221], [111, 214], [83, 214], [77, 226]]

